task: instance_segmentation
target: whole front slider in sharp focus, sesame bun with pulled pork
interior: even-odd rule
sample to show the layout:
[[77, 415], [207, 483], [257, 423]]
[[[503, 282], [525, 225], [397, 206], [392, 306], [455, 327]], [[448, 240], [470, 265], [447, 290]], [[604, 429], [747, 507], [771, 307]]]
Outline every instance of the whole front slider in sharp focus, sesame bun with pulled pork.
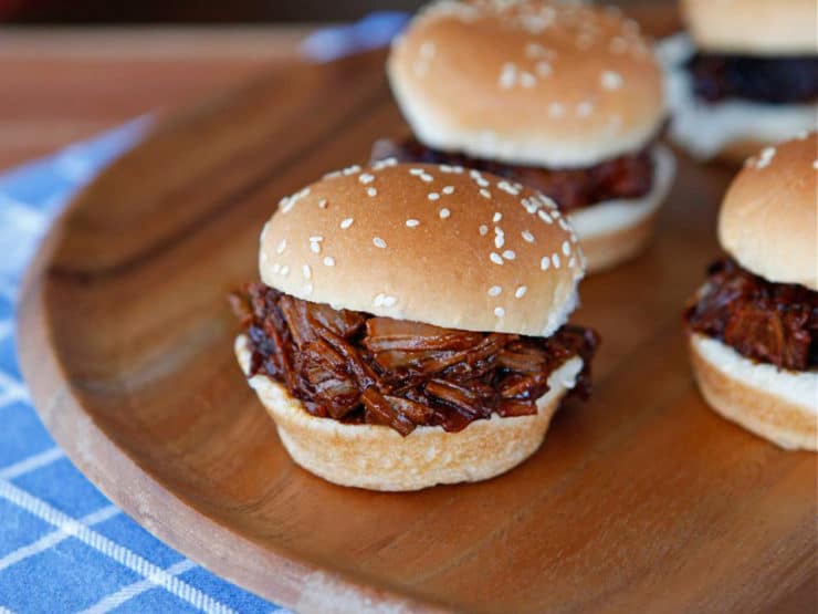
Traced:
[[285, 198], [235, 354], [293, 460], [345, 486], [478, 481], [589, 391], [567, 324], [584, 258], [550, 199], [459, 166], [384, 160]]

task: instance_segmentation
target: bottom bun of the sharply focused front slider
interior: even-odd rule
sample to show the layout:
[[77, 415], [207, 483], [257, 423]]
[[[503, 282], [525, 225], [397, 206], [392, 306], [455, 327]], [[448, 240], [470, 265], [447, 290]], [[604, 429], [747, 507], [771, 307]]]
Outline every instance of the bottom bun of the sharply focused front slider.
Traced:
[[[247, 374], [249, 340], [235, 340], [235, 355]], [[419, 490], [438, 483], [493, 478], [528, 458], [543, 443], [548, 424], [583, 368], [574, 357], [550, 374], [549, 391], [532, 416], [475, 420], [460, 433], [420, 426], [407, 437], [386, 426], [350, 425], [308, 414], [284, 386], [264, 375], [250, 377], [279, 437], [295, 462], [342, 486], [370, 490]]]

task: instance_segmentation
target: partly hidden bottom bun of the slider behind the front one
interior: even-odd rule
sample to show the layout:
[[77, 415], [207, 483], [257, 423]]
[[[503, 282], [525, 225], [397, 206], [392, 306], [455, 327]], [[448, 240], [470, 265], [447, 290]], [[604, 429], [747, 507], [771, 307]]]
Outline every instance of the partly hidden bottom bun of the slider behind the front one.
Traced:
[[635, 258], [652, 239], [657, 212], [675, 176], [675, 159], [667, 147], [653, 147], [652, 157], [653, 186], [646, 196], [597, 202], [568, 216], [579, 237], [587, 272], [598, 273]]

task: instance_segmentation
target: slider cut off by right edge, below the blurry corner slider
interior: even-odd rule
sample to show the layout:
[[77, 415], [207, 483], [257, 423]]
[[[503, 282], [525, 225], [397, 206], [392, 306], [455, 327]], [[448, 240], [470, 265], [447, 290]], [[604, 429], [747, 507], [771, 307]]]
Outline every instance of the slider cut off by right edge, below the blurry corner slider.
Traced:
[[719, 218], [728, 257], [684, 312], [693, 373], [725, 418], [784, 448], [818, 447], [818, 138], [767, 147]]

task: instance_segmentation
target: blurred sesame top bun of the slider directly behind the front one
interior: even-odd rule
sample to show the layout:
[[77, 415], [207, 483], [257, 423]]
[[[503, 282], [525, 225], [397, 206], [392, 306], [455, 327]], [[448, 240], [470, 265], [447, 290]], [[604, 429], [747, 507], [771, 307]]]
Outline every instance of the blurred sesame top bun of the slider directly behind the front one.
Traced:
[[392, 45], [387, 72], [429, 146], [549, 167], [641, 148], [664, 121], [639, 25], [558, 2], [436, 2]]

